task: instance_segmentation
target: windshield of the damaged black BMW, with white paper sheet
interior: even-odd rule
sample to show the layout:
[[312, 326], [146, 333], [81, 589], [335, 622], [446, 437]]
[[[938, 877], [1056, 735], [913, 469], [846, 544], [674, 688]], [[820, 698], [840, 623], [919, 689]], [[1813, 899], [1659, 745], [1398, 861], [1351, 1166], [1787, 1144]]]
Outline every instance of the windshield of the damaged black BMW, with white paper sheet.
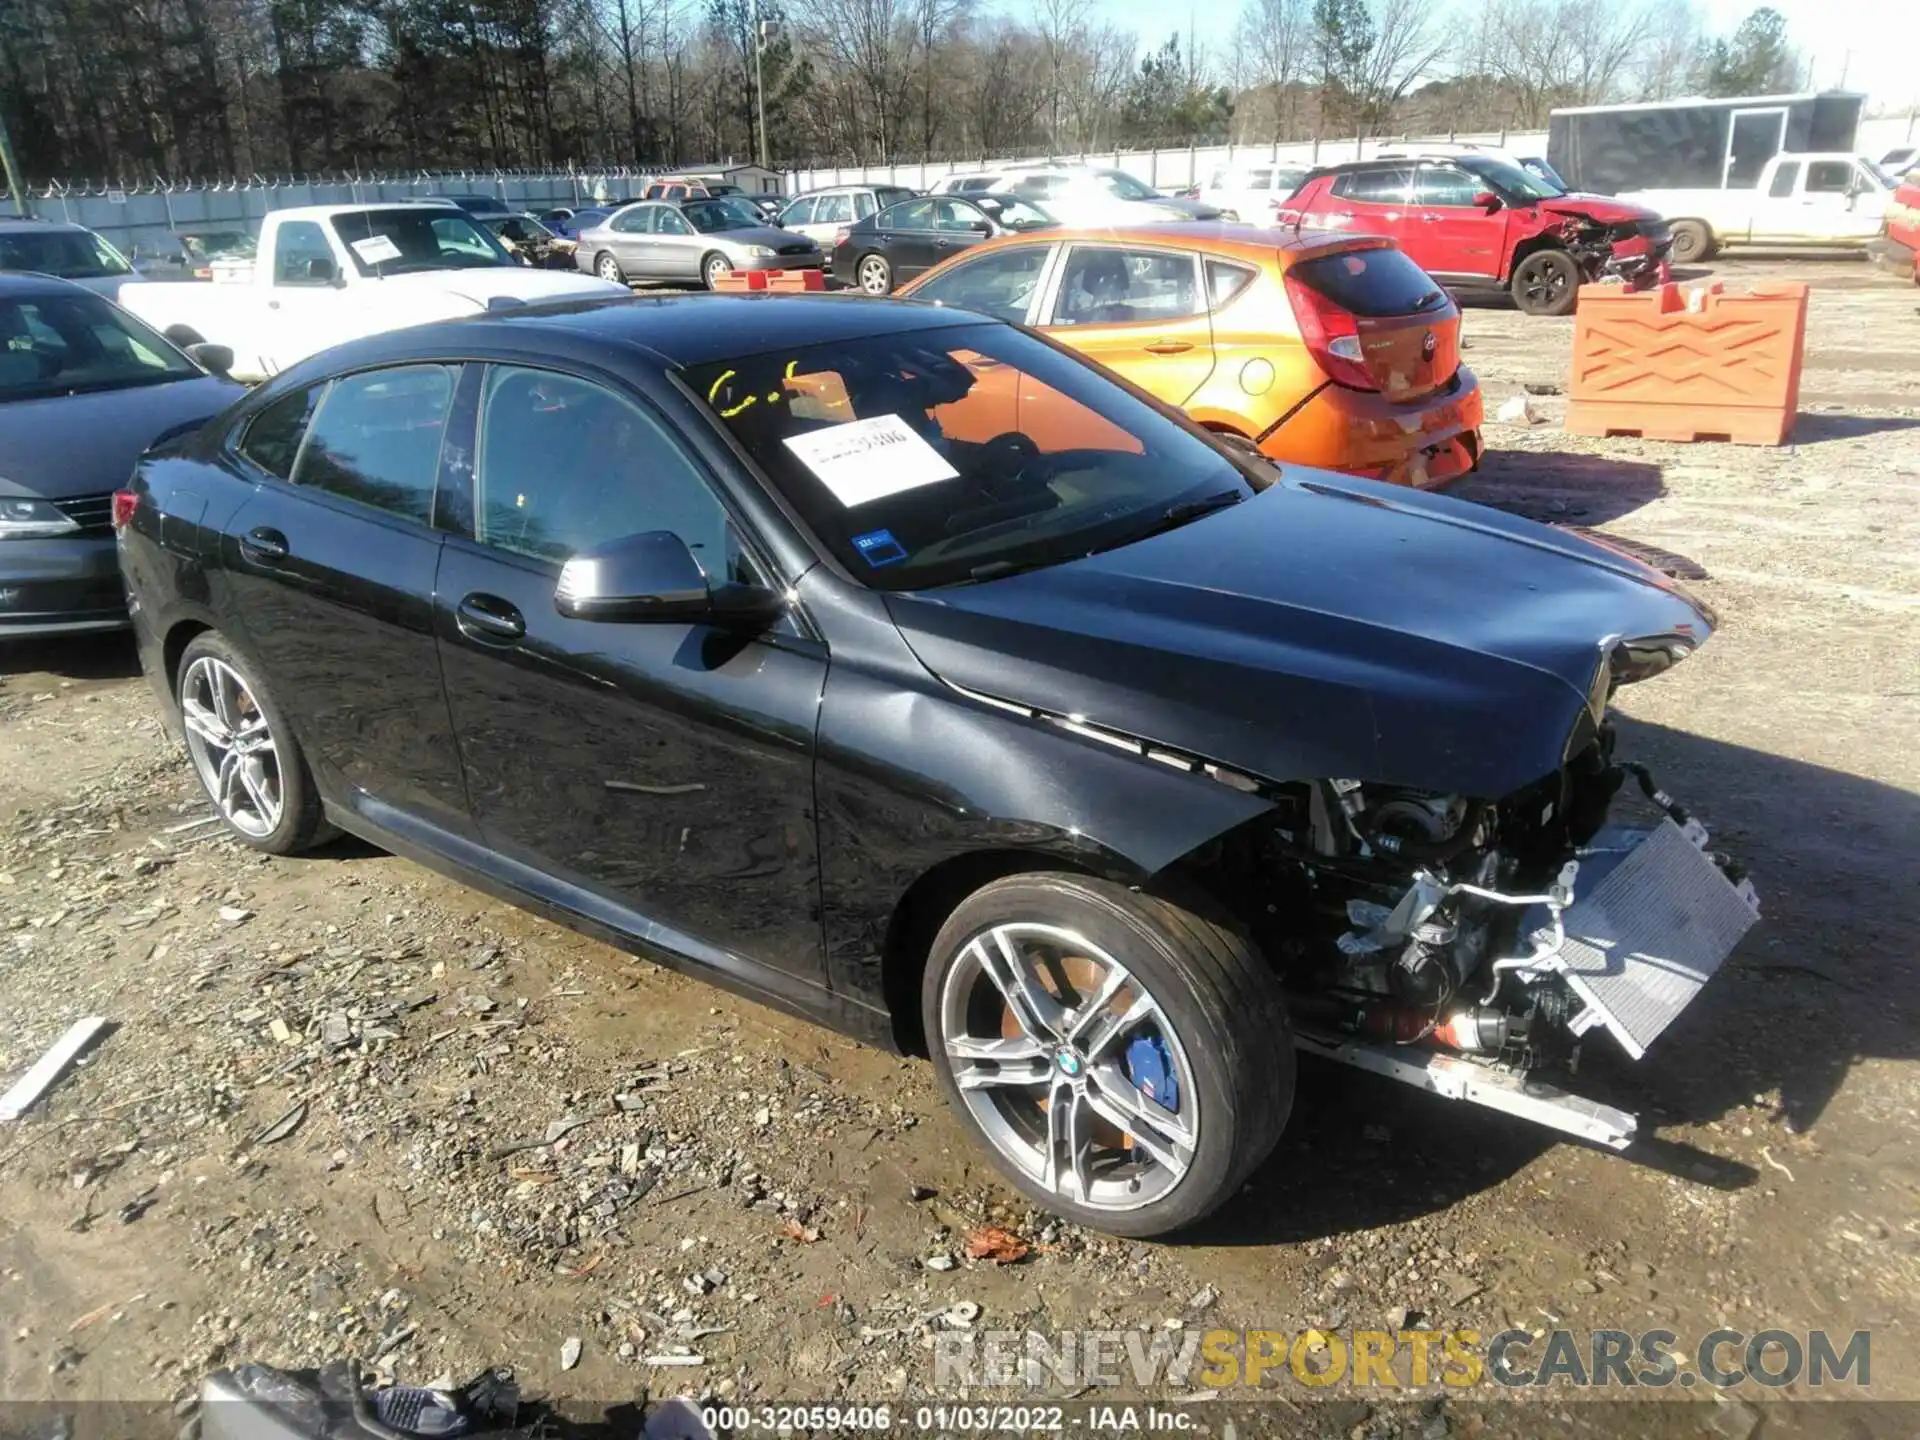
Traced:
[[685, 380], [876, 589], [1114, 549], [1244, 499], [1260, 476], [1008, 324], [837, 340]]

